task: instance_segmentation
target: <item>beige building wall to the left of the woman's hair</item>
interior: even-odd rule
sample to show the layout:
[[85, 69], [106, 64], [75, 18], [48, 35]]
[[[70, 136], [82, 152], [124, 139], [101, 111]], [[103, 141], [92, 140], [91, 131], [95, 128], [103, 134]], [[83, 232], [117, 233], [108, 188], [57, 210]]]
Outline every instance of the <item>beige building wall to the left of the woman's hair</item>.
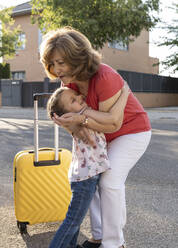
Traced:
[[15, 57], [8, 61], [11, 71], [25, 71], [25, 81], [42, 81], [46, 74], [39, 61], [38, 28], [30, 23], [30, 15], [15, 17], [15, 24], [20, 24], [25, 32], [26, 45], [24, 50], [19, 50]]

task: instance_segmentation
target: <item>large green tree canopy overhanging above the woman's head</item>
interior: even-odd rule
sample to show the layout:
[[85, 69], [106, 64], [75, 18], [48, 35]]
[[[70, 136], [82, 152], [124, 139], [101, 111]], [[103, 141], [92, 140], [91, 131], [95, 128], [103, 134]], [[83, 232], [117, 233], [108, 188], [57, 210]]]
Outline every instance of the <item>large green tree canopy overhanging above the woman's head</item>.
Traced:
[[107, 41], [128, 43], [157, 23], [151, 13], [158, 10], [159, 0], [32, 0], [33, 22], [41, 30], [71, 26], [95, 48]]

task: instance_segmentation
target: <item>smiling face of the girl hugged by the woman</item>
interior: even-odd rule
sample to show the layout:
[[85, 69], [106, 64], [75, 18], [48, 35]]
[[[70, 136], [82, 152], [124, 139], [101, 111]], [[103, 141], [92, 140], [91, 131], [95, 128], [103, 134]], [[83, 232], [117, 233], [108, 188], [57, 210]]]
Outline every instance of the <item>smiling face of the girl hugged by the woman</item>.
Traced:
[[67, 112], [77, 113], [87, 106], [85, 97], [72, 89], [62, 92], [61, 102]]

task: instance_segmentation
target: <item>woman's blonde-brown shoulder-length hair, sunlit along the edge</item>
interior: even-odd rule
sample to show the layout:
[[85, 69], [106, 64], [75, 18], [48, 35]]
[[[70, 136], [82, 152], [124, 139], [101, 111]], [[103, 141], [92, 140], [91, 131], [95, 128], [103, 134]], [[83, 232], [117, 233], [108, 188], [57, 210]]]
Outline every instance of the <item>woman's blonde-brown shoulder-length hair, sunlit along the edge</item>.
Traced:
[[50, 71], [50, 59], [55, 50], [69, 65], [71, 76], [76, 80], [88, 80], [97, 72], [101, 55], [92, 48], [90, 41], [79, 31], [64, 27], [48, 32], [44, 38], [40, 47], [40, 60], [49, 78], [57, 78], [57, 75]]

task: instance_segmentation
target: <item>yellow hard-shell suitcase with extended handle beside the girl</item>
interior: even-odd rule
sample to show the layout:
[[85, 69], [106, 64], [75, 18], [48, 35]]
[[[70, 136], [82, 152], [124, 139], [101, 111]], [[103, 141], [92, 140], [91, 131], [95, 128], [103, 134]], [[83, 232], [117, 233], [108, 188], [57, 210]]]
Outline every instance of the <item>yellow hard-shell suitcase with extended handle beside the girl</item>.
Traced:
[[63, 220], [71, 199], [68, 169], [72, 154], [58, 149], [56, 124], [55, 149], [38, 149], [38, 99], [49, 95], [34, 95], [34, 151], [20, 151], [14, 158], [14, 205], [21, 233], [27, 232], [27, 224]]

